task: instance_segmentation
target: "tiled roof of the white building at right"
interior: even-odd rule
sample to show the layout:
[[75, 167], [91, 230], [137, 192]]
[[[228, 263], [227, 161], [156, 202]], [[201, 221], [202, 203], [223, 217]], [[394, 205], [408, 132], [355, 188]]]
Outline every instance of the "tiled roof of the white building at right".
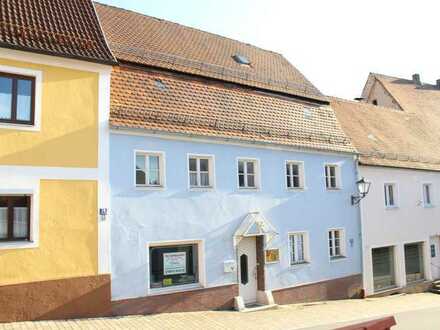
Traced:
[[428, 122], [420, 113], [337, 98], [331, 106], [361, 164], [440, 170], [440, 121], [433, 116]]

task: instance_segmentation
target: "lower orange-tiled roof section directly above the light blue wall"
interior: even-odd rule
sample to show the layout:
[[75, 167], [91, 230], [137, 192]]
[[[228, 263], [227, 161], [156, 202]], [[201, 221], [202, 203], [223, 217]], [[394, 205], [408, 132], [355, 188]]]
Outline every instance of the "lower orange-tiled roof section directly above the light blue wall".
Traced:
[[139, 67], [114, 68], [110, 123], [122, 129], [354, 152], [328, 105]]

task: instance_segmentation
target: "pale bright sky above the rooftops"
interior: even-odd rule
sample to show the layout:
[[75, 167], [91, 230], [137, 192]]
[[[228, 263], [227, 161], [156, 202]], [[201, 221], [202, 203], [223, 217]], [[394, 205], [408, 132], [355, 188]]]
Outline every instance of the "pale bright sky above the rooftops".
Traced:
[[440, 1], [98, 0], [283, 54], [326, 95], [369, 72], [440, 79]]

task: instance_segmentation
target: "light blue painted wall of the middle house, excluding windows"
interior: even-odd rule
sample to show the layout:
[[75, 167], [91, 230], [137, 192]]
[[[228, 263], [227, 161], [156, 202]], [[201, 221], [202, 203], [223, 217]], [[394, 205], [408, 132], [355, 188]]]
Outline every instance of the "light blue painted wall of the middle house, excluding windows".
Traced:
[[[237, 283], [235, 273], [224, 273], [223, 262], [235, 260], [233, 234], [252, 211], [263, 212], [280, 233], [271, 247], [280, 248], [281, 260], [266, 265], [267, 289], [361, 273], [359, 212], [350, 204], [357, 190], [353, 156], [114, 133], [110, 139], [113, 299], [147, 294], [148, 242], [204, 239], [207, 286]], [[165, 190], [134, 187], [134, 150], [165, 153]], [[188, 153], [215, 156], [214, 191], [189, 191]], [[237, 157], [260, 159], [260, 191], [238, 190]], [[287, 191], [286, 160], [304, 161], [304, 191]], [[325, 188], [324, 164], [328, 162], [342, 166], [341, 190]], [[327, 230], [335, 227], [345, 228], [347, 258], [330, 262]], [[291, 267], [287, 233], [302, 230], [309, 232], [311, 263]]]

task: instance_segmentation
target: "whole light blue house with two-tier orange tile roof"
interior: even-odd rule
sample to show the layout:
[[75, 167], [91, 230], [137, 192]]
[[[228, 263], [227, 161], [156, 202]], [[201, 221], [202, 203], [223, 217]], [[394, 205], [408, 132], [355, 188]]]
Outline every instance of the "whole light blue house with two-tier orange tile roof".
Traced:
[[115, 310], [359, 295], [355, 153], [327, 99], [279, 54], [97, 9], [121, 63], [110, 114]]

